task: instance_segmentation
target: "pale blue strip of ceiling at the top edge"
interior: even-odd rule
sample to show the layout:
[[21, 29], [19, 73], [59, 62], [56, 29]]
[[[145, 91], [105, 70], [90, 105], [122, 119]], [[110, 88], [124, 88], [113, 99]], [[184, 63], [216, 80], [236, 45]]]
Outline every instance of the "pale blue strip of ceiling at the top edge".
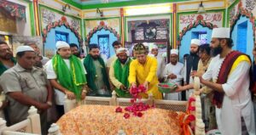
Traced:
[[134, 0], [72, 0], [75, 3], [81, 5], [98, 4], [98, 3], [118, 3], [118, 2], [129, 2]]

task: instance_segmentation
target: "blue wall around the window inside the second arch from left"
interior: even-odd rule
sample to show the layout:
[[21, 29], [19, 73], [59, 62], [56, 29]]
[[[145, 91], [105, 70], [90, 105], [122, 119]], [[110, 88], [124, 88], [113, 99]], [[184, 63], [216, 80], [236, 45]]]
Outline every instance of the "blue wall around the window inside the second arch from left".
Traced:
[[114, 50], [112, 47], [112, 43], [117, 41], [117, 37], [114, 36], [114, 34], [110, 31], [106, 31], [105, 29], [102, 29], [101, 31], [96, 31], [96, 33], [93, 34], [92, 37], [90, 37], [90, 44], [96, 43], [98, 44], [98, 35], [109, 35], [109, 42], [108, 42], [108, 48], [110, 48], [110, 57], [114, 55]]

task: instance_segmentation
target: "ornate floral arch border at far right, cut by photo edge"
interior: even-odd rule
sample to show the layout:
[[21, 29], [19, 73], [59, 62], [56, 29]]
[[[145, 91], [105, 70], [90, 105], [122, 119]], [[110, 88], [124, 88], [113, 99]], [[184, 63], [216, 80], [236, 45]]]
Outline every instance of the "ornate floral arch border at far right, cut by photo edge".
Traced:
[[[233, 17], [233, 19], [230, 21], [230, 33], [234, 30], [234, 27], [237, 23], [237, 21], [240, 19], [241, 16], [247, 17], [250, 22], [253, 25], [253, 31], [255, 31], [255, 24], [254, 24], [254, 16], [253, 13], [247, 10], [247, 8], [242, 8], [241, 2], [238, 4], [238, 10], [236, 15]], [[253, 32], [253, 41], [255, 42], [255, 32]]]

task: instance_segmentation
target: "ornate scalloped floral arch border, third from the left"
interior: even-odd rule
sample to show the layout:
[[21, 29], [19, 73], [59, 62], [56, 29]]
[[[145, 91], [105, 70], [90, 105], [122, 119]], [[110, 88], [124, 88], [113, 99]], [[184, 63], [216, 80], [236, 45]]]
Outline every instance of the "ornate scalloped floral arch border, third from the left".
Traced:
[[193, 24], [187, 25], [186, 27], [183, 27], [183, 30], [179, 32], [177, 36], [177, 45], [181, 45], [181, 41], [183, 39], [183, 36], [186, 34], [187, 31], [190, 31], [191, 29], [195, 28], [197, 25], [202, 25], [203, 27], [208, 27], [209, 29], [217, 28], [217, 25], [213, 25], [210, 22], [207, 22], [204, 20], [203, 16], [199, 14], [196, 17], [196, 20]]

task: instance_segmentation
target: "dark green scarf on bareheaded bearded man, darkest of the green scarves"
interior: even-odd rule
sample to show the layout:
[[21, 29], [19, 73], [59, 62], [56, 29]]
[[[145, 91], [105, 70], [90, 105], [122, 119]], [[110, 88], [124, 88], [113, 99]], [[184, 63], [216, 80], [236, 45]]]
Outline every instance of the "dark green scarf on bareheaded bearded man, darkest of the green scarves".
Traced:
[[[101, 57], [99, 57], [97, 60], [102, 65], [101, 68], [102, 68], [103, 82], [104, 82], [105, 86], [108, 88], [108, 91], [110, 91], [106, 65]], [[96, 75], [96, 67], [95, 67], [93, 61], [94, 61], [94, 59], [91, 57], [90, 54], [88, 54], [84, 59], [84, 68], [87, 71], [87, 74], [86, 74], [86, 79], [88, 81], [87, 85], [92, 90], [92, 92], [90, 92], [89, 94], [97, 95], [98, 87], [96, 87], [96, 84], [95, 84], [97, 75]], [[111, 94], [109, 93], [109, 95], [104, 95], [104, 96], [111, 96]]]

